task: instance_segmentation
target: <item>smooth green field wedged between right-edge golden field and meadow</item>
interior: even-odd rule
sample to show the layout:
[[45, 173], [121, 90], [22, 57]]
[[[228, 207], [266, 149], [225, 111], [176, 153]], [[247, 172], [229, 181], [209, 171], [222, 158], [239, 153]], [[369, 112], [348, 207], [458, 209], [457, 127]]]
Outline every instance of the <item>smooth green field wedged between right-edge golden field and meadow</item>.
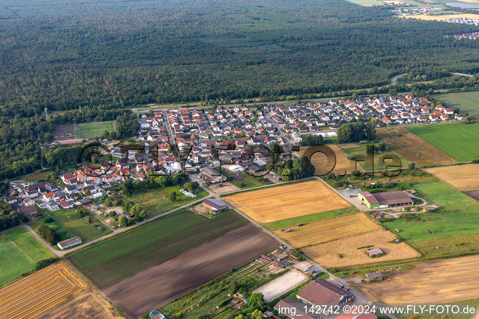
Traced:
[[442, 182], [414, 184], [413, 187], [420, 193], [419, 197], [429, 199], [445, 211], [479, 207], [477, 201]]

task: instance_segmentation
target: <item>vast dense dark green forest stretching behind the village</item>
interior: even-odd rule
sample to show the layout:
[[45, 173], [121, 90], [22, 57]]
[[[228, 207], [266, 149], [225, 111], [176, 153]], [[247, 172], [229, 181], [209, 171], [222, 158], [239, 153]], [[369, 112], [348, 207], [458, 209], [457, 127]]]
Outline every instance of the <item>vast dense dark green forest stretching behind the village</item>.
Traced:
[[371, 88], [476, 72], [473, 26], [344, 0], [3, 1], [0, 103], [43, 110]]

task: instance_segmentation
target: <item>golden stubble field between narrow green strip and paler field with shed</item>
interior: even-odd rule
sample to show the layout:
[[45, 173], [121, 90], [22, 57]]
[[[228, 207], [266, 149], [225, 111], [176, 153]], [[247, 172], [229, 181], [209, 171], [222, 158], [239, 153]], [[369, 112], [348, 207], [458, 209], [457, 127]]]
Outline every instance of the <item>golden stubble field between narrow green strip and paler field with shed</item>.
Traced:
[[295, 225], [285, 228], [294, 231], [285, 232], [278, 229], [273, 231], [273, 233], [293, 247], [305, 247], [366, 231], [375, 231], [379, 228], [380, 226], [370, 220], [365, 214], [356, 213], [327, 220], [313, 221], [305, 223], [303, 226]]

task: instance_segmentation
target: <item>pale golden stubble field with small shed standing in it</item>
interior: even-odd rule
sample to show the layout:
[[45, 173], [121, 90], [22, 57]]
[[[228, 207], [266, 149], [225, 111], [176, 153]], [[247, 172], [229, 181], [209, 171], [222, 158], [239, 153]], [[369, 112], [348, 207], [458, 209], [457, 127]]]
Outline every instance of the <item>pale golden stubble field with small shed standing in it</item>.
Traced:
[[[302, 248], [302, 250], [309, 258], [324, 267], [352, 266], [421, 256], [405, 242], [390, 242], [396, 238], [390, 231], [377, 230], [323, 242], [319, 245]], [[365, 246], [372, 247], [358, 249]], [[372, 248], [379, 248], [385, 254], [381, 257], [371, 258], [365, 254], [365, 250]], [[342, 258], [339, 257], [340, 254]]]

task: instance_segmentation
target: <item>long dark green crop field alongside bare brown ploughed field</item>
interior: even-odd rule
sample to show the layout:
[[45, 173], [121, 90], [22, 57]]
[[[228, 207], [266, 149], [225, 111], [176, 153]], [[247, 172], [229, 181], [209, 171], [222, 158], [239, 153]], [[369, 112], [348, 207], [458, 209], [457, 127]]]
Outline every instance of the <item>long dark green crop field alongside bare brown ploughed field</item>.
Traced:
[[68, 255], [100, 287], [245, 225], [234, 212], [213, 219], [181, 211]]

